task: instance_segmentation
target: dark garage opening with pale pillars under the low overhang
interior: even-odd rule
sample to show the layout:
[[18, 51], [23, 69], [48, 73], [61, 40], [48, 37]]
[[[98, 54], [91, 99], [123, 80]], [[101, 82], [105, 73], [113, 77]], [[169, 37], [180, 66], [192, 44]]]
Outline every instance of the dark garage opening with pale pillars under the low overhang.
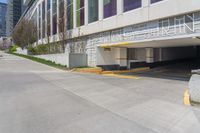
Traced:
[[191, 70], [200, 68], [200, 47], [129, 48], [130, 69], [150, 67], [143, 76], [189, 80]]

